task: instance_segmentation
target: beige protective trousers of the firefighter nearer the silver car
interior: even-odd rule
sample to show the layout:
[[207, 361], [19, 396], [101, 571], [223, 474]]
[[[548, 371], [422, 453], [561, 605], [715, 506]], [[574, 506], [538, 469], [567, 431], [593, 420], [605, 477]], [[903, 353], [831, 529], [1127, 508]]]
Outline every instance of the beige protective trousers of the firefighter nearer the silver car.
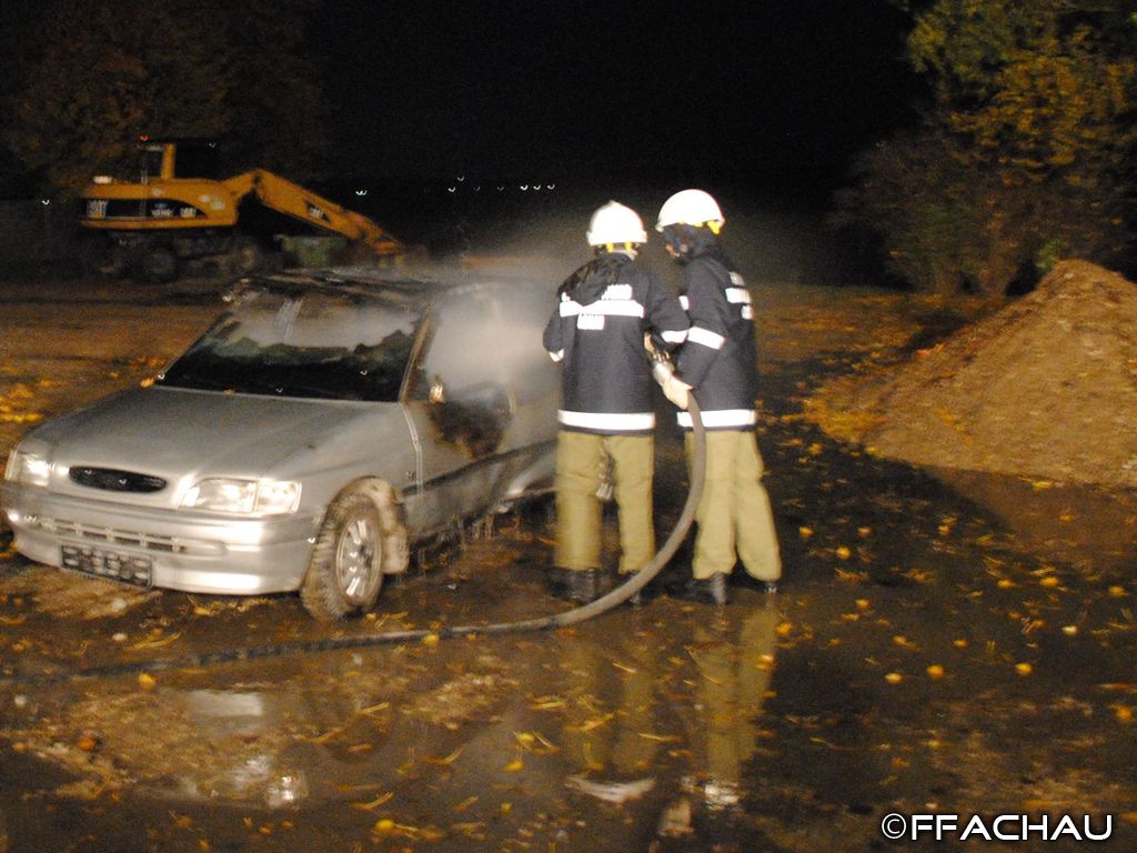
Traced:
[[595, 436], [561, 430], [557, 436], [557, 544], [562, 569], [600, 568], [603, 502], [597, 490], [613, 463], [620, 520], [620, 571], [638, 572], [655, 555], [652, 522], [652, 436]]

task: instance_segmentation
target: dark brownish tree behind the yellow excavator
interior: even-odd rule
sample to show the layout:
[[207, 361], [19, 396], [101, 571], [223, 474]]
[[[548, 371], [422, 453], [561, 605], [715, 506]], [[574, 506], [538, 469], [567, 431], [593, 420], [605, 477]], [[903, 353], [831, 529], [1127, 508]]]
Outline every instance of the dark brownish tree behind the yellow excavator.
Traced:
[[[306, 5], [274, 3], [267, 23], [259, 3], [56, 0], [36, 22], [3, 141], [65, 196], [96, 172], [130, 174], [142, 133], [240, 134], [239, 151], [268, 157], [258, 165], [302, 166], [321, 144], [319, 89], [296, 58]], [[296, 28], [282, 33], [281, 20]]]

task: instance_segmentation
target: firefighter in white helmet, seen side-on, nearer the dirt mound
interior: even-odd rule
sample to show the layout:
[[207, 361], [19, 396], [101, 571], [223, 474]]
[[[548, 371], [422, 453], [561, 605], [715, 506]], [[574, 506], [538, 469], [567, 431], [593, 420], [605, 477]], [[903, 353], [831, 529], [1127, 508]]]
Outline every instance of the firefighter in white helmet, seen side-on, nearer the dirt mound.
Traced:
[[[694, 391], [707, 439], [688, 593], [719, 605], [727, 603], [727, 578], [739, 560], [766, 591], [775, 591], [781, 578], [773, 513], [754, 436], [754, 313], [746, 283], [719, 242], [724, 222], [708, 193], [683, 190], [664, 202], [656, 224], [667, 252], [682, 266], [680, 300], [691, 324], [672, 387], [664, 390], [680, 409], [687, 408], [686, 394]], [[678, 417], [687, 431], [690, 457], [691, 415], [680, 411]]]

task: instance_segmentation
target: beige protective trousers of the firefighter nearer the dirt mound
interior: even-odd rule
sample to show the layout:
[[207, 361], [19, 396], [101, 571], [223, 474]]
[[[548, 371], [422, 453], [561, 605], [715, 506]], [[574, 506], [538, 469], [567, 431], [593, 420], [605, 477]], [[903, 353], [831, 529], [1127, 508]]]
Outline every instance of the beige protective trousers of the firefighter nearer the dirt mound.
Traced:
[[[706, 433], [707, 472], [703, 497], [695, 513], [695, 560], [691, 574], [706, 580], [715, 572], [730, 574], [738, 560], [757, 580], [781, 578], [781, 554], [770, 496], [762, 485], [765, 467], [754, 433], [714, 430]], [[687, 458], [694, 438], [687, 434]]]

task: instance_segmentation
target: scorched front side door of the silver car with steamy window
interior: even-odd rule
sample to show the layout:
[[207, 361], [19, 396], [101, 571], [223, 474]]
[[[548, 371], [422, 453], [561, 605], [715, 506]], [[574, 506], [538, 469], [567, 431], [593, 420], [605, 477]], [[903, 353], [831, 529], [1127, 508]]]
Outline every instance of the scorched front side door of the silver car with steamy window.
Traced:
[[404, 488], [416, 536], [497, 503], [505, 475], [499, 454], [514, 412], [496, 330], [495, 305], [478, 291], [441, 300], [430, 312], [402, 404], [420, 459], [416, 482]]

